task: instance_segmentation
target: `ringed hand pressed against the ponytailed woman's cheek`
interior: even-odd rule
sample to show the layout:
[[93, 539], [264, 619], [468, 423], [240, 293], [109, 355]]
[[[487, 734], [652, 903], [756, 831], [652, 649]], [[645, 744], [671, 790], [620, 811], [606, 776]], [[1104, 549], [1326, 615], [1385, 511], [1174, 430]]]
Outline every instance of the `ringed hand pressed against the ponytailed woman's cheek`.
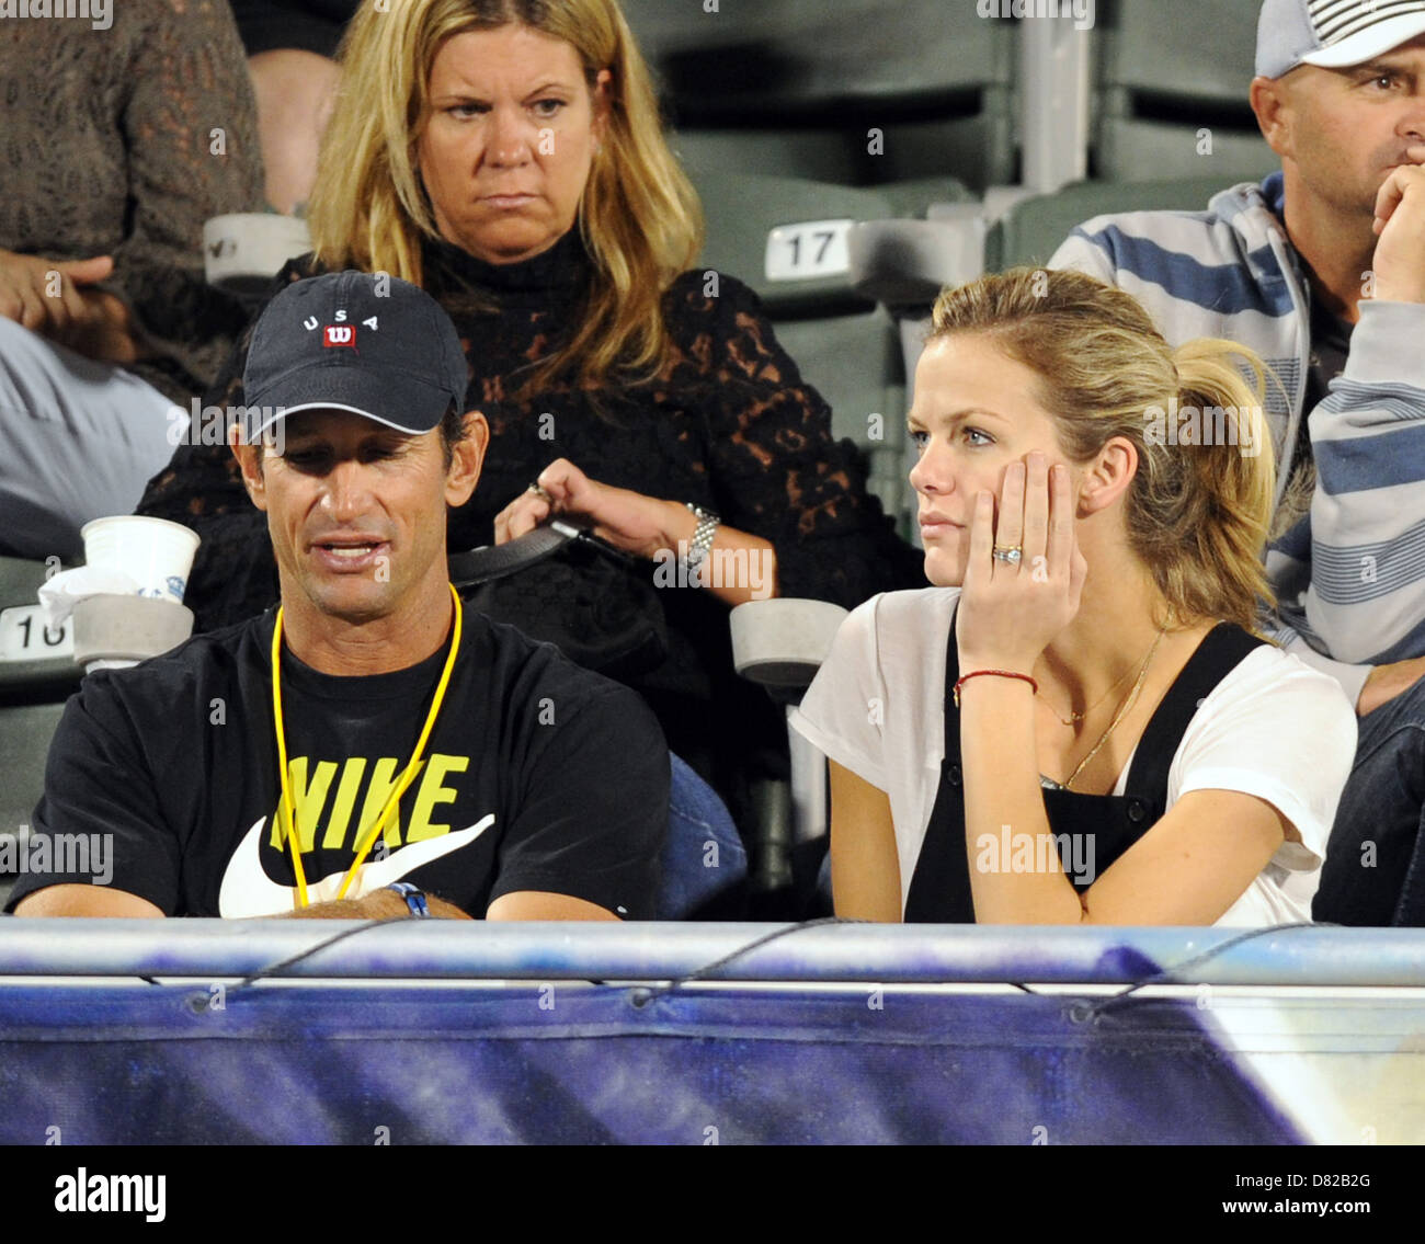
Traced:
[[[1017, 564], [995, 550], [1020, 550]], [[960, 670], [1030, 673], [1040, 653], [1079, 611], [1087, 563], [1074, 540], [1069, 467], [1042, 453], [1005, 472], [999, 519], [982, 492], [956, 618]]]

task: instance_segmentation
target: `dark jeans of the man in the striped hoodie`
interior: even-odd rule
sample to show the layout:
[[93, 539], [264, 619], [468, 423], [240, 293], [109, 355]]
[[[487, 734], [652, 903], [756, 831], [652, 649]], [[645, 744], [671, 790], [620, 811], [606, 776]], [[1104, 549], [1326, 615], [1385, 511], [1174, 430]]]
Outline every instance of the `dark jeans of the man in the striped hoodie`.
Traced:
[[1425, 928], [1425, 680], [1359, 725], [1311, 915]]

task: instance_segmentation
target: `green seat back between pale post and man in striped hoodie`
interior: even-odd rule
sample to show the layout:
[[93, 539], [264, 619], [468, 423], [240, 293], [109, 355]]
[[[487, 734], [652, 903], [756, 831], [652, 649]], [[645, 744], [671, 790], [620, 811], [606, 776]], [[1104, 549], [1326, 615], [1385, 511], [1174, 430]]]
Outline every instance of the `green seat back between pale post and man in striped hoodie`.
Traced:
[[1197, 165], [1230, 184], [1274, 167], [1247, 103], [1260, 7], [1100, 0], [1093, 177], [1147, 181]]

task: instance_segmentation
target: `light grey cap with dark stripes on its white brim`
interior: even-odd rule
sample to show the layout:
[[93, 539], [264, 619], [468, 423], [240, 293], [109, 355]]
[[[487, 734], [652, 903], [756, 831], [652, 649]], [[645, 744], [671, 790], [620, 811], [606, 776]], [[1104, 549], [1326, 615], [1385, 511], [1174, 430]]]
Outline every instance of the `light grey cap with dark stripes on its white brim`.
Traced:
[[1257, 19], [1257, 76], [1298, 64], [1342, 68], [1425, 34], [1425, 0], [1265, 0]]

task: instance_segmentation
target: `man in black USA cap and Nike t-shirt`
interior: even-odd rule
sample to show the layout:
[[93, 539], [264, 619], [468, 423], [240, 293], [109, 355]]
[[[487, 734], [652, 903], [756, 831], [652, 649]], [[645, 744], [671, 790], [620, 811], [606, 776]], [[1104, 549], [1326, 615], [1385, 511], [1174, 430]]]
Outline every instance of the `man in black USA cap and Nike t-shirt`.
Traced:
[[341, 272], [254, 331], [234, 453], [282, 604], [70, 701], [34, 814], [113, 879], [27, 874], [20, 916], [640, 919], [668, 754], [631, 691], [465, 610], [446, 507], [489, 439], [426, 294]]

